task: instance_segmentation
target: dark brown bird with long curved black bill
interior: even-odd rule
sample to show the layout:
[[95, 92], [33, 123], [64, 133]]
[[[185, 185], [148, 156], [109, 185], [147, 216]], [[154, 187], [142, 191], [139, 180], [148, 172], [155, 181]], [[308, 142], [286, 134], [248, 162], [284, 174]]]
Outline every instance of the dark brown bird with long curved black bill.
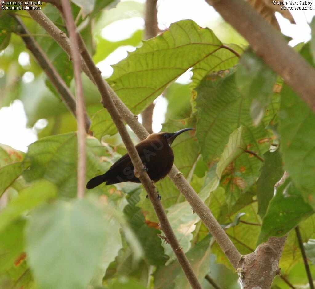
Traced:
[[[135, 146], [152, 181], [157, 182], [169, 173], [174, 163], [171, 144], [176, 136], [188, 130], [193, 130], [193, 128], [184, 128], [174, 133], [152, 133]], [[98, 175], [89, 180], [86, 188], [93, 189], [103, 182], [106, 182], [106, 185], [112, 185], [126, 181], [140, 183], [139, 178], [135, 176], [134, 166], [128, 153], [118, 159], [104, 175]]]

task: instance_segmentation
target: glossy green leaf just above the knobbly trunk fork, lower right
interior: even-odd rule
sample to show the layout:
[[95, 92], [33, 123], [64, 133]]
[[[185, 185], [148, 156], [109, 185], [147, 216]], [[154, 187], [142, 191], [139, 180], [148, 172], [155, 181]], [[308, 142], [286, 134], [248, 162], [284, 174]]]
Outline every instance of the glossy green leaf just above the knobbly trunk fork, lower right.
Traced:
[[312, 214], [312, 207], [305, 203], [299, 189], [287, 178], [269, 203], [257, 244], [265, 242], [270, 236], [284, 236]]

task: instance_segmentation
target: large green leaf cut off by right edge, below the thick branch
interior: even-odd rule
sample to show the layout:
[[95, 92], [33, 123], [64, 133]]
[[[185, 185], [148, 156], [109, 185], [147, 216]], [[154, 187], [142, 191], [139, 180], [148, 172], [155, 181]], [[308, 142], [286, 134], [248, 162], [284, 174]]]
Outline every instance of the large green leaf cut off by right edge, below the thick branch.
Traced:
[[284, 170], [306, 202], [315, 207], [315, 114], [287, 85], [281, 92], [280, 150]]

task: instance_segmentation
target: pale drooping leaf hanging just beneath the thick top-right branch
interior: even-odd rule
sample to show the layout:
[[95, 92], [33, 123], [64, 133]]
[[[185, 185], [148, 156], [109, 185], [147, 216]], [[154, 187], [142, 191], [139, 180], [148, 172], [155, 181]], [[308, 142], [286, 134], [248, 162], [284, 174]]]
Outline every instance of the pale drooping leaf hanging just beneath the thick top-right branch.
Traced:
[[255, 125], [260, 123], [270, 103], [276, 77], [276, 73], [252, 50], [243, 53], [235, 81], [240, 92], [252, 101], [250, 112]]

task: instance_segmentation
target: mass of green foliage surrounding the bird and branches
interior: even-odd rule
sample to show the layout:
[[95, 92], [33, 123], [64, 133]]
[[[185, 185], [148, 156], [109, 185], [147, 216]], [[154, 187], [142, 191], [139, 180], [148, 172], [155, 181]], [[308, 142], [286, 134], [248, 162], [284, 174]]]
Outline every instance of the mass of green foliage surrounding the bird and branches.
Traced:
[[[221, 38], [183, 20], [147, 42], [140, 43], [142, 31], [123, 41], [103, 39], [101, 27], [128, 14], [141, 16], [143, 10], [132, 1], [110, 2], [96, 5], [88, 16], [95, 23], [88, 21], [81, 31], [95, 62], [122, 45], [140, 46], [113, 66], [107, 81], [134, 114], [165, 90], [163, 131], [196, 127], [196, 134], [183, 134], [174, 142], [175, 165], [209, 204], [238, 250], [250, 253], [269, 236], [281, 236], [300, 224], [312, 260], [315, 118], [310, 108], [247, 46], [240, 45], [231, 28]], [[113, 8], [101, 11], [106, 7]], [[72, 9], [80, 25], [80, 8], [73, 4]], [[52, 5], [43, 5], [42, 11], [63, 24]], [[38, 43], [73, 90], [66, 54], [43, 36], [45, 31], [33, 20], [21, 18], [32, 33], [41, 35], [36, 37]], [[4, 256], [0, 287], [189, 288], [169, 245], [157, 236], [157, 219], [141, 186], [103, 184], [87, 192], [84, 200], [75, 199], [76, 121], [34, 59], [30, 57], [25, 67], [18, 63], [26, 48], [20, 36], [11, 33], [16, 29], [14, 20], [2, 13], [0, 26], [5, 48], [1, 105], [20, 99], [28, 125], [48, 121], [27, 153], [5, 145], [0, 149], [0, 192], [5, 192], [1, 200], [7, 202], [0, 212]], [[230, 48], [226, 49], [221, 41], [233, 44], [226, 44]], [[309, 43], [296, 49], [313, 65]], [[191, 83], [174, 82], [191, 67]], [[33, 81], [23, 81], [26, 72], [33, 73]], [[88, 180], [106, 171], [125, 149], [109, 115], [100, 109], [96, 88], [84, 76], [83, 82], [94, 133], [87, 137]], [[292, 179], [273, 196], [284, 170]], [[211, 288], [204, 279], [207, 274], [222, 288], [238, 288], [225, 255], [174, 184], [166, 178], [157, 190], [203, 288]], [[292, 284], [307, 283], [294, 231], [289, 233], [280, 268]], [[289, 288], [278, 276], [273, 286]]]

